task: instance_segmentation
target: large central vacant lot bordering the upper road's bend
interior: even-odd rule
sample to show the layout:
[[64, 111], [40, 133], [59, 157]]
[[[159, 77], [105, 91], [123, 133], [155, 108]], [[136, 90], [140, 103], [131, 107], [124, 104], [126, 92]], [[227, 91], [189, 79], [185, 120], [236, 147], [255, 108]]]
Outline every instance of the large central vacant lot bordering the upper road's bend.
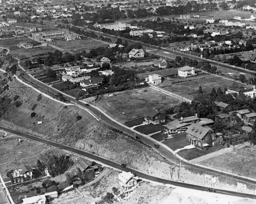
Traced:
[[147, 109], [155, 108], [163, 111], [179, 103], [179, 100], [152, 90], [151, 88], [116, 92], [116, 96], [102, 95], [96, 101], [97, 106], [106, 110], [121, 122], [141, 118]]

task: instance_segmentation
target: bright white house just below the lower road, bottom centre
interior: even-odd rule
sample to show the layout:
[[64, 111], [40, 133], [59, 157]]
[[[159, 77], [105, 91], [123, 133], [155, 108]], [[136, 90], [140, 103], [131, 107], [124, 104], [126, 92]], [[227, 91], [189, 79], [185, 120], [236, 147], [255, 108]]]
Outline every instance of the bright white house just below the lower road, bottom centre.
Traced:
[[137, 187], [137, 177], [131, 172], [121, 172], [118, 174], [118, 185], [124, 192], [131, 192]]

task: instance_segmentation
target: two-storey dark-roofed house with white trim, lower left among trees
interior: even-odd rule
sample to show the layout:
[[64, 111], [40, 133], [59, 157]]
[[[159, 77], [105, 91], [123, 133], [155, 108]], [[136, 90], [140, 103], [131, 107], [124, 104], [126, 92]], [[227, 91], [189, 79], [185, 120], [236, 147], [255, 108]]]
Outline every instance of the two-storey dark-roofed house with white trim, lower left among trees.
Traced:
[[33, 179], [33, 173], [33, 169], [28, 165], [23, 165], [21, 168], [13, 170], [12, 177], [14, 179], [14, 183]]

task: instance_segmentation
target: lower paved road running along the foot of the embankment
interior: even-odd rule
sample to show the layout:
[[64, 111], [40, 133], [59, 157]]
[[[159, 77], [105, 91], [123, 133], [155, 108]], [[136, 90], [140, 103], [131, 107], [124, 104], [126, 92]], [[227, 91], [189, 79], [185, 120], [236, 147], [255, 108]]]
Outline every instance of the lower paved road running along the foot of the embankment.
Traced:
[[[4, 131], [7, 131], [9, 133], [25, 137], [27, 139], [31, 139], [31, 140], [34, 140], [34, 141], [37, 141], [37, 142], [41, 142], [41, 143], [44, 143], [44, 144], [47, 144], [47, 145], [51, 145], [51, 146], [54, 146], [54, 147], [59, 148], [59, 149], [67, 150], [67, 151], [73, 152], [77, 155], [88, 157], [92, 160], [99, 161], [99, 162], [101, 162], [105, 165], [114, 167], [114, 168], [119, 169], [121, 171], [131, 171], [132, 173], [135, 173], [137, 176], [141, 177], [142, 179], [146, 179], [146, 180], [154, 181], [154, 182], [159, 182], [159, 183], [170, 184], [170, 185], [179, 186], [179, 187], [196, 189], [196, 190], [206, 191], [208, 189], [207, 187], [204, 187], [204, 186], [161, 179], [159, 177], [143, 173], [141, 171], [135, 170], [135, 169], [130, 168], [130, 167], [122, 168], [121, 165], [117, 162], [113, 162], [111, 160], [99, 157], [99, 156], [91, 154], [90, 152], [87, 152], [87, 151], [83, 151], [83, 150], [80, 150], [80, 149], [77, 149], [77, 148], [74, 148], [74, 147], [71, 147], [71, 146], [63, 145], [63, 144], [58, 144], [58, 143], [55, 143], [55, 142], [52, 142], [52, 141], [49, 141], [49, 140], [45, 140], [45, 139], [38, 138], [38, 137], [35, 137], [35, 136], [32, 136], [32, 135], [28, 135], [28, 134], [25, 134], [25, 133], [20, 133], [18, 131], [13, 131], [13, 130], [7, 129], [5, 127], [2, 127], [2, 126], [0, 126], [0, 128], [3, 129]], [[221, 194], [226, 194], [226, 195], [233, 195], [233, 196], [248, 197], [248, 198], [256, 199], [256, 195], [253, 195], [253, 194], [233, 192], [233, 191], [227, 191], [227, 190], [222, 190], [222, 189], [216, 189], [216, 192], [221, 193]]]

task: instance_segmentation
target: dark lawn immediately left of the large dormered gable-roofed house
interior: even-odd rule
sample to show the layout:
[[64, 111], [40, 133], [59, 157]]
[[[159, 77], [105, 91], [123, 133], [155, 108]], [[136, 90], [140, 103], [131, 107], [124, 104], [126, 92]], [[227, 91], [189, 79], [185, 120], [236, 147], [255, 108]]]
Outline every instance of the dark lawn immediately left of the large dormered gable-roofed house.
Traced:
[[186, 134], [177, 134], [172, 135], [173, 138], [163, 141], [164, 144], [166, 144], [168, 147], [173, 149], [174, 151], [176, 149], [183, 148], [186, 145], [189, 145], [189, 143], [186, 141]]

